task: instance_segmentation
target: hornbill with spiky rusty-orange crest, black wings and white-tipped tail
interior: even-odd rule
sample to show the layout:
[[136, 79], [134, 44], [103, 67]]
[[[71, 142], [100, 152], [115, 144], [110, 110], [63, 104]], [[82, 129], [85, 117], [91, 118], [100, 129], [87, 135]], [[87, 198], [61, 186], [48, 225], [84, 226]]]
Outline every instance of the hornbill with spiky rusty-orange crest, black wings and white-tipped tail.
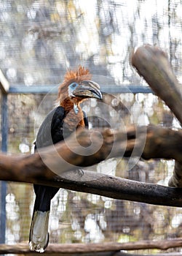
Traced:
[[[90, 70], [79, 66], [69, 69], [63, 83], [58, 87], [57, 107], [42, 122], [36, 136], [34, 151], [58, 143], [68, 138], [77, 128], [88, 128], [88, 118], [80, 103], [88, 98], [103, 99], [98, 83], [91, 80]], [[51, 200], [59, 188], [33, 184], [36, 195], [29, 248], [44, 252], [49, 244], [49, 217]]]

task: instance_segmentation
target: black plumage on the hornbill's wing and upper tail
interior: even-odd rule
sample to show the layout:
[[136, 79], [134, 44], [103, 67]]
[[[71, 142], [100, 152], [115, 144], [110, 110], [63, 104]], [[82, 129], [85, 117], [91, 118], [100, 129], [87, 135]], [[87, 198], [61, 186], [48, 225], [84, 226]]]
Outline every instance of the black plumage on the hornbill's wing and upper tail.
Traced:
[[[58, 143], [61, 140], [67, 138], [71, 131], [64, 131], [64, 119], [66, 118], [66, 111], [63, 107], [59, 106], [52, 110], [39, 128], [39, 132], [37, 134], [34, 151], [39, 151], [39, 148], [44, 148], [46, 146], [51, 146], [52, 144]], [[84, 113], [84, 126], [88, 128], [88, 120], [87, 116]], [[73, 132], [73, 131], [72, 131]], [[36, 194], [36, 200], [33, 208], [33, 217], [36, 211], [47, 212], [50, 211], [50, 204], [52, 198], [59, 191], [59, 188], [56, 187], [48, 187], [33, 184], [33, 189]], [[32, 219], [33, 219], [32, 217]], [[33, 222], [32, 224], [33, 225]], [[31, 227], [32, 230], [32, 227]], [[31, 241], [31, 231], [30, 238]], [[47, 243], [44, 245], [44, 249], [46, 248], [49, 242], [49, 235], [47, 235]], [[39, 249], [39, 248], [38, 248]]]

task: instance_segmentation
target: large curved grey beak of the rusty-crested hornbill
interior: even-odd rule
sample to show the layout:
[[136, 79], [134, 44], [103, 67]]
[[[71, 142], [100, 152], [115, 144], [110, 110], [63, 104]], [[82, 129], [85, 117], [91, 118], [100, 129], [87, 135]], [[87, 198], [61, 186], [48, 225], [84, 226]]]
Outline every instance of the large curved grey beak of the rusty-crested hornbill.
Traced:
[[74, 96], [82, 98], [103, 99], [100, 86], [91, 80], [83, 80], [73, 91]]

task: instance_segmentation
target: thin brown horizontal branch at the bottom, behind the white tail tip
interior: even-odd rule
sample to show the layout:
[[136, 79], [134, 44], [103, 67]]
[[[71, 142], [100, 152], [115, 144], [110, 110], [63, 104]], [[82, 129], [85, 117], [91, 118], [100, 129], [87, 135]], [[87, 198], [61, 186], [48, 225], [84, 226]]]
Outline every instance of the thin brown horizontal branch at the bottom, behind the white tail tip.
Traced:
[[[50, 244], [44, 255], [76, 255], [76, 253], [97, 253], [97, 252], [118, 252], [121, 250], [138, 250], [138, 249], [162, 249], [181, 247], [182, 238], [172, 240], [151, 241], [143, 240], [127, 243], [95, 243], [95, 244]], [[0, 254], [32, 254], [27, 244], [0, 244]], [[33, 252], [33, 255], [36, 253]], [[39, 255], [39, 254], [37, 254]]]

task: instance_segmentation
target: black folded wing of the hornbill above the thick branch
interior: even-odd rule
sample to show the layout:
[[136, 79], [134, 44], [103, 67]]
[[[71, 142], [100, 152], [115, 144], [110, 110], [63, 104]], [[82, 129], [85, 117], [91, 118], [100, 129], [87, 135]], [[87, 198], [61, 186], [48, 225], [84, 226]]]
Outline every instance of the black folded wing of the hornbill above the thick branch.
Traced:
[[39, 128], [35, 149], [50, 146], [63, 140], [63, 120], [65, 115], [65, 110], [60, 106], [47, 115]]

